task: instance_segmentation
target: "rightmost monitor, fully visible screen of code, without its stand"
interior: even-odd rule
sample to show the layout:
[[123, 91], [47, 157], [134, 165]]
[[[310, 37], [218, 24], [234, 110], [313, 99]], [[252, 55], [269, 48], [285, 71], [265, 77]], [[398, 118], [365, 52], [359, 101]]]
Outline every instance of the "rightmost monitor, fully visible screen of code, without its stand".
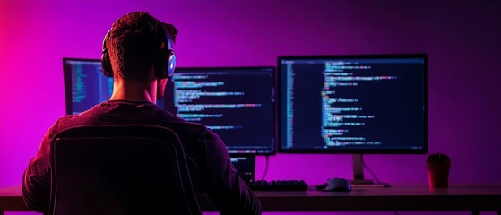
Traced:
[[426, 153], [427, 56], [280, 56], [279, 152]]

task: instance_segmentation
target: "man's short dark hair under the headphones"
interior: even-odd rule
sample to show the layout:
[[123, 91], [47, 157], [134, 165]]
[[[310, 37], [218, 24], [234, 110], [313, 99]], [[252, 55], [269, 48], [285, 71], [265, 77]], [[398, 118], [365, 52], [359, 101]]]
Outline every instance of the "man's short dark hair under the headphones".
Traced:
[[106, 46], [115, 76], [146, 81], [152, 65], [161, 60], [160, 48], [167, 47], [164, 27], [172, 42], [176, 41], [177, 29], [174, 25], [160, 22], [147, 12], [132, 12], [113, 23]]

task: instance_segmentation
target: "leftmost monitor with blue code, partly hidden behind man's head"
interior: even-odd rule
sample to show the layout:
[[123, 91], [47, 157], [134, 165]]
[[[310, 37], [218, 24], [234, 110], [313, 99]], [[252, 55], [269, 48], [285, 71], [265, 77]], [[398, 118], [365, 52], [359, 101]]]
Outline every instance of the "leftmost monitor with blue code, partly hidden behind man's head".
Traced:
[[[108, 100], [113, 78], [103, 74], [99, 59], [63, 58], [66, 114], [80, 114]], [[163, 99], [157, 105], [163, 108]]]

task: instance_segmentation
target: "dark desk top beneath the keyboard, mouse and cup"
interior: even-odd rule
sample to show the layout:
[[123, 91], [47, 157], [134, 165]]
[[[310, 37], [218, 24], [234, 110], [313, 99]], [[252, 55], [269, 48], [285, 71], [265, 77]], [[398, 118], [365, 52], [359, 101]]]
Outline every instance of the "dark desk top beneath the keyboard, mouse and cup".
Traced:
[[[313, 187], [313, 186], [312, 186]], [[388, 188], [354, 188], [351, 192], [255, 192], [263, 211], [497, 211], [501, 215], [501, 185], [451, 186], [430, 190], [427, 186], [393, 185]], [[213, 211], [201, 196], [203, 211]], [[4, 211], [28, 211], [21, 187], [0, 188], [0, 215]]]

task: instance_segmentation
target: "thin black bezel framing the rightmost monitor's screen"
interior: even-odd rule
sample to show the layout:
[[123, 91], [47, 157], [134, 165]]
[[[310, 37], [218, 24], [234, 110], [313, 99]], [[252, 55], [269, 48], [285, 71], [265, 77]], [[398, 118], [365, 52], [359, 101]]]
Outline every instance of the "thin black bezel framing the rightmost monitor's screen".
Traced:
[[[281, 104], [281, 61], [282, 60], [293, 60], [293, 59], [371, 59], [371, 58], [423, 58], [424, 59], [424, 142], [422, 149], [289, 149], [282, 148], [282, 144], [285, 143], [281, 140], [282, 132], [282, 113]], [[428, 153], [428, 54], [426, 53], [410, 53], [410, 54], [354, 54], [354, 55], [315, 55], [315, 56], [278, 56], [277, 57], [277, 99], [278, 99], [278, 133], [277, 133], [277, 151], [278, 153], [298, 153], [298, 154], [426, 154]]]

